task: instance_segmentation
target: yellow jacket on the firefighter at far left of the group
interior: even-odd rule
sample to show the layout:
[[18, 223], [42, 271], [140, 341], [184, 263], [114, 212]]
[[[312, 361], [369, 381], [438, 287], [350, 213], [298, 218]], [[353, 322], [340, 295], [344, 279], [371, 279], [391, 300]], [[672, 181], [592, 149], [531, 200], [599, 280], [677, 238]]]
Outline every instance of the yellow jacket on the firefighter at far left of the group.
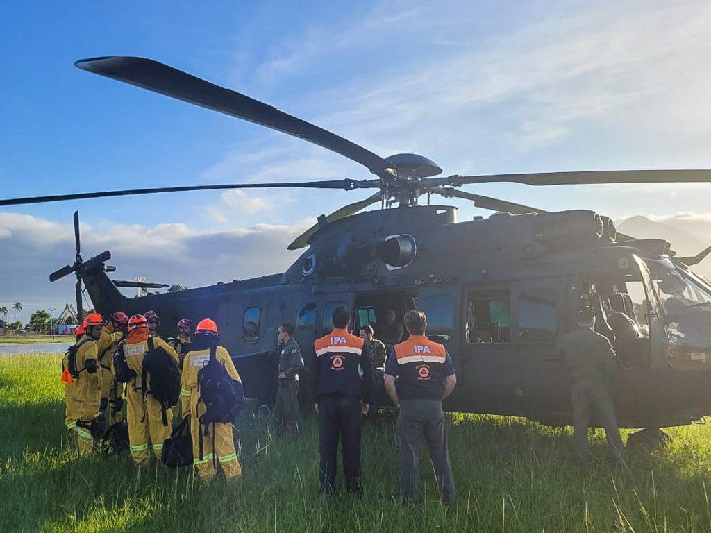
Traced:
[[[77, 344], [85, 339], [91, 339], [91, 337], [82, 335], [77, 340]], [[97, 359], [97, 345], [93, 339], [89, 343], [82, 344], [77, 350], [77, 370], [83, 369], [90, 359]], [[68, 357], [65, 355], [62, 360], [62, 370], [67, 369], [68, 366]], [[66, 402], [65, 418], [67, 423], [69, 421], [91, 421], [95, 419], [99, 415], [101, 401], [99, 372], [90, 374], [86, 370], [81, 370], [77, 375], [77, 379], [74, 379], [73, 383], [66, 385], [64, 400]]]

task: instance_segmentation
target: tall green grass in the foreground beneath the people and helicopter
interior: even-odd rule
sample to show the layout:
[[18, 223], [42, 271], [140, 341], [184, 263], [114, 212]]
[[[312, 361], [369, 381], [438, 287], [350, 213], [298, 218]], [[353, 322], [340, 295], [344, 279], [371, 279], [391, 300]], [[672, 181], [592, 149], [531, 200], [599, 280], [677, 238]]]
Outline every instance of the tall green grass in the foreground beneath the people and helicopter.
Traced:
[[[138, 472], [128, 456], [80, 458], [63, 429], [58, 355], [0, 357], [0, 532], [677, 532], [710, 531], [711, 429], [671, 429], [665, 451], [631, 472], [594, 436], [594, 464], [570, 461], [570, 432], [520, 419], [449, 416], [459, 495], [439, 505], [422, 463], [424, 502], [395, 499], [395, 418], [365, 427], [362, 501], [317, 495], [314, 417], [299, 442], [237, 421], [245, 475], [202, 487], [191, 469]], [[339, 478], [341, 481], [341, 478]]]

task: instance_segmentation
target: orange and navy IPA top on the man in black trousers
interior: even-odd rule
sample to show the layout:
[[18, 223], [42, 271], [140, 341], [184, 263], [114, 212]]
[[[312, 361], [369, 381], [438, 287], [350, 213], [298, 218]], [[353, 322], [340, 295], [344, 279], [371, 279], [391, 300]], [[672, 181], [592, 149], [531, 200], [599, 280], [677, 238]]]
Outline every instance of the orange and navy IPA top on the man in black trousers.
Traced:
[[[363, 357], [363, 339], [345, 329], [334, 329], [314, 342], [316, 368], [314, 389], [316, 401], [326, 394], [365, 397], [373, 394], [373, 365]], [[367, 361], [366, 361], [367, 360]], [[363, 379], [360, 372], [363, 372]]]

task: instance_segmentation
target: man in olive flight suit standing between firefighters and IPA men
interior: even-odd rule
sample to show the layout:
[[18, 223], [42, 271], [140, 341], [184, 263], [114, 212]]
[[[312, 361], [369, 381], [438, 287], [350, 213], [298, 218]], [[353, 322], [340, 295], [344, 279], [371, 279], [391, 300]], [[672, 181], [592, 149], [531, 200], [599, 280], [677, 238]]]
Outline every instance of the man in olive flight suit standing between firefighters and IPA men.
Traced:
[[304, 368], [299, 343], [294, 339], [294, 324], [284, 322], [277, 328], [277, 346], [272, 352], [279, 357], [277, 399], [274, 421], [295, 438], [299, 437], [299, 371]]

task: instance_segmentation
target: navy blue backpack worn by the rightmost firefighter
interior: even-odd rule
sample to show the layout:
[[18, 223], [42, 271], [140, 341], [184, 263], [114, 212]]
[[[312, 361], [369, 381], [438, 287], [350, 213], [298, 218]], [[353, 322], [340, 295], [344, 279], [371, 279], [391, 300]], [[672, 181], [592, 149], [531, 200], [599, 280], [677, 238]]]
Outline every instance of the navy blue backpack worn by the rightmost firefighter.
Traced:
[[206, 409], [200, 416], [200, 424], [205, 425], [231, 423], [245, 407], [242, 383], [232, 379], [217, 360], [217, 348], [217, 343], [210, 346], [210, 360], [198, 370], [199, 402], [203, 402]]

